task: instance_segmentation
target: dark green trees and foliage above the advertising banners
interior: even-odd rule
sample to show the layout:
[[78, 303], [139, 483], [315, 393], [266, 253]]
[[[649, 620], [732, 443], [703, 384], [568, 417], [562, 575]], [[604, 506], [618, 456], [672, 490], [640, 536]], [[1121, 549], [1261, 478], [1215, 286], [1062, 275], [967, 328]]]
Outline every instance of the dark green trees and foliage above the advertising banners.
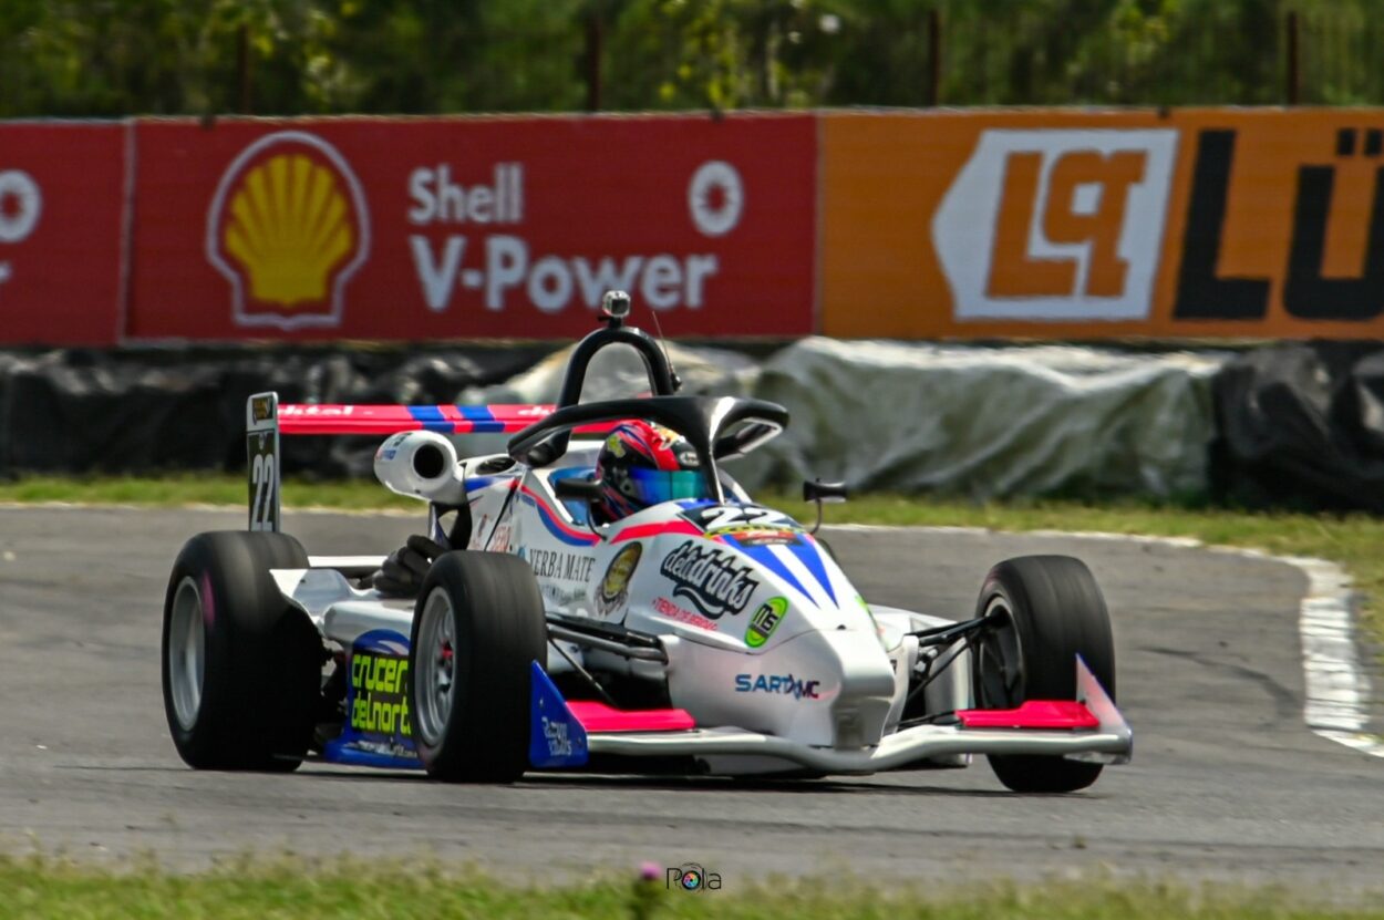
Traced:
[[1290, 14], [1384, 102], [1384, 0], [4, 0], [0, 118], [1282, 104]]

